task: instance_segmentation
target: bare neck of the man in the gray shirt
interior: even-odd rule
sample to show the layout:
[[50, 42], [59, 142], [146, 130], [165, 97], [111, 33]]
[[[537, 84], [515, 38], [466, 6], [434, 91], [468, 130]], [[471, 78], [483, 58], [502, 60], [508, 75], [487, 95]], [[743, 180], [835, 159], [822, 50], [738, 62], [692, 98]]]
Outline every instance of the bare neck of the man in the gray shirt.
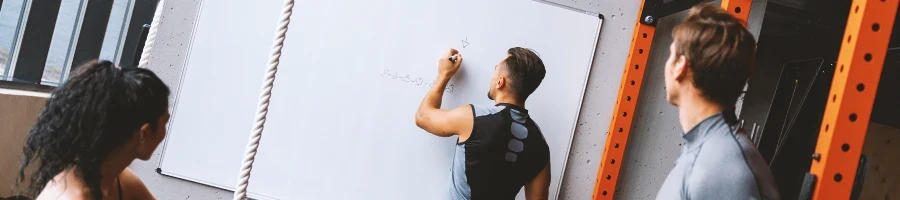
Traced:
[[678, 120], [684, 133], [687, 133], [700, 122], [722, 112], [724, 108], [699, 95], [687, 95], [678, 103]]

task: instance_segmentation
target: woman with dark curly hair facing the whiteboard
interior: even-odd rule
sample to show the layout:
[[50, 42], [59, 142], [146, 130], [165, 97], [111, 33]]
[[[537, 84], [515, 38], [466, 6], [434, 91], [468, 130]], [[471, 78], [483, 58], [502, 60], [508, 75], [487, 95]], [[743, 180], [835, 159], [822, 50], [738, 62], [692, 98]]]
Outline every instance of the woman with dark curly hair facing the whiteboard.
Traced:
[[150, 70], [108, 61], [79, 71], [29, 131], [17, 183], [30, 177], [24, 194], [38, 200], [154, 199], [127, 167], [165, 138], [169, 88]]

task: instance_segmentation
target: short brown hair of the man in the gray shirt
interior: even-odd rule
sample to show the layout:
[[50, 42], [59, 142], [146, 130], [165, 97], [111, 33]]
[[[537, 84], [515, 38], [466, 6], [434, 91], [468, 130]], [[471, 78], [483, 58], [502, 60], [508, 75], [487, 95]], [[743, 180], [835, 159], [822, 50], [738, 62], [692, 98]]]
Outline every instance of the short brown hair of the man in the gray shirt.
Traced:
[[707, 100], [731, 107], [753, 72], [756, 39], [725, 10], [694, 6], [672, 30], [675, 54], [687, 58], [693, 84]]

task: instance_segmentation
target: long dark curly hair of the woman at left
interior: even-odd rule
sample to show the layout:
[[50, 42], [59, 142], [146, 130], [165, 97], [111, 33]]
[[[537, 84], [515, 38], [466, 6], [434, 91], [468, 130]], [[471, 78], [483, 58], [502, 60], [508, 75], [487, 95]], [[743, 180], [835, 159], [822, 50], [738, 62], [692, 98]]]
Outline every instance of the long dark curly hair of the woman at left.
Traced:
[[53, 91], [25, 141], [25, 168], [34, 167], [25, 195], [37, 196], [47, 182], [68, 169], [102, 199], [100, 165], [111, 151], [149, 123], [156, 128], [169, 106], [169, 88], [152, 71], [118, 68], [92, 61]]

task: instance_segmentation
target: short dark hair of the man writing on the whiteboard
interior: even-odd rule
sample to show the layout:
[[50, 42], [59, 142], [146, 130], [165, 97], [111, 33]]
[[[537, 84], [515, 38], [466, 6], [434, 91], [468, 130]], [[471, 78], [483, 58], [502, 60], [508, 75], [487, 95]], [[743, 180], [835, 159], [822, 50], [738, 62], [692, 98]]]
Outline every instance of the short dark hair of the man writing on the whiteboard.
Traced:
[[547, 73], [544, 61], [528, 48], [513, 47], [506, 50], [506, 53], [509, 57], [503, 63], [509, 72], [509, 86], [515, 92], [516, 98], [524, 101], [544, 80]]

